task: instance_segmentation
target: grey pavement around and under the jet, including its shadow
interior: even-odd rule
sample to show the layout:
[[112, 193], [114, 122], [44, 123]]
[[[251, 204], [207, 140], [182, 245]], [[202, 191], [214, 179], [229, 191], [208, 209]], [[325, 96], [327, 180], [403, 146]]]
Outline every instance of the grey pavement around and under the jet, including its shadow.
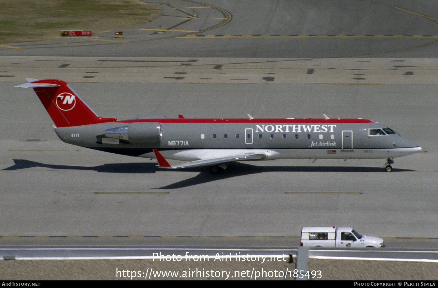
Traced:
[[60, 142], [32, 90], [16, 84], [0, 83], [3, 235], [297, 236], [342, 224], [437, 237], [435, 85], [71, 84], [102, 117], [325, 113], [385, 123], [427, 151], [397, 158], [391, 173], [384, 160], [276, 160], [211, 175]]

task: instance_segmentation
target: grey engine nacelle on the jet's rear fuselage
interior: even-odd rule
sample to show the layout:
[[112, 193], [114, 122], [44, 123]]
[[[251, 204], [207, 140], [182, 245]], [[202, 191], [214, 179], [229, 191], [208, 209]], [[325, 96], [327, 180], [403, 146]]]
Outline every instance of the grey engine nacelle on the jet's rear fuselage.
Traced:
[[120, 139], [129, 143], [159, 142], [162, 139], [161, 123], [133, 122], [125, 126], [106, 129], [105, 137]]

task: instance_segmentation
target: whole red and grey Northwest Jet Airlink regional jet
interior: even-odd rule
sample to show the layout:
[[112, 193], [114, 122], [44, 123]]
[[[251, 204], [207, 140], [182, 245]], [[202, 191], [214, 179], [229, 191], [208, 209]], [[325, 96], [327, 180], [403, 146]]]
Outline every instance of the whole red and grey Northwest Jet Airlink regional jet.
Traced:
[[[37, 80], [33, 88], [58, 137], [67, 143], [130, 156], [156, 158], [160, 167], [210, 166], [212, 173], [232, 161], [313, 159], [386, 159], [421, 147], [386, 125], [365, 119], [187, 119], [139, 116], [129, 120], [99, 117], [61, 80]], [[167, 159], [186, 161], [170, 165]]]

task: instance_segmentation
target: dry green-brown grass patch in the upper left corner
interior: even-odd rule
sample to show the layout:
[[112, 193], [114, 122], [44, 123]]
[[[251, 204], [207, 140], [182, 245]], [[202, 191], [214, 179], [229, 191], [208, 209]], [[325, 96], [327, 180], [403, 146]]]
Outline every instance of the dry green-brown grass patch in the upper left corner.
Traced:
[[0, 43], [58, 37], [61, 30], [116, 31], [152, 21], [161, 10], [139, 0], [2, 0]]

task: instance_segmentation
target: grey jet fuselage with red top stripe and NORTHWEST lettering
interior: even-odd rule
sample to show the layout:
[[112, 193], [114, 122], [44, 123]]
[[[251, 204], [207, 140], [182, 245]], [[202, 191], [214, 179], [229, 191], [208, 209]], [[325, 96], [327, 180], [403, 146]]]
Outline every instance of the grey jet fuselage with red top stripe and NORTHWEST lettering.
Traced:
[[[386, 129], [386, 130], [385, 130]], [[143, 119], [56, 128], [61, 140], [111, 153], [197, 160], [201, 150], [264, 151], [278, 158], [393, 158], [421, 148], [364, 119]], [[377, 131], [377, 132], [376, 132]], [[187, 150], [196, 153], [182, 153]]]

